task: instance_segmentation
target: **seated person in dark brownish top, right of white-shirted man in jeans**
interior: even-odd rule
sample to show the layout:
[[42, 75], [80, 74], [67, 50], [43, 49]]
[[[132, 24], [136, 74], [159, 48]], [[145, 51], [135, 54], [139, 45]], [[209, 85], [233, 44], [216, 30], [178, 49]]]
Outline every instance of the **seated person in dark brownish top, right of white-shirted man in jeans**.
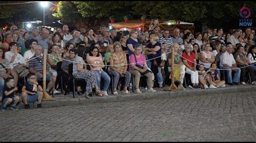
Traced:
[[[254, 70], [253, 68], [246, 67], [249, 65], [249, 61], [246, 57], [246, 55], [243, 53], [244, 52], [244, 47], [239, 45], [237, 47], [237, 52], [235, 52], [234, 54], [234, 59], [237, 62], [237, 67], [241, 68], [241, 74], [240, 74], [240, 82], [242, 85], [246, 85], [245, 83], [245, 70], [248, 70], [251, 77], [252, 77], [252, 84], [256, 84], [256, 82], [254, 82], [255, 78], [254, 78]], [[243, 68], [246, 67], [246, 68]]]

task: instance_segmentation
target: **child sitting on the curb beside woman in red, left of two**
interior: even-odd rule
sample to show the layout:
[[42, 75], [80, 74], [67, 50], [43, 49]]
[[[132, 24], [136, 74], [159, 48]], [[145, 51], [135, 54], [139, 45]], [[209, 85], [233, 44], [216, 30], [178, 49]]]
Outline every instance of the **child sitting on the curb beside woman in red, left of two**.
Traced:
[[213, 85], [213, 82], [211, 80], [210, 75], [208, 75], [207, 73], [210, 71], [210, 69], [208, 69], [207, 71], [204, 70], [204, 64], [200, 64], [199, 66], [199, 70], [198, 70], [198, 78], [199, 78], [199, 82], [201, 83], [201, 88], [203, 89], [202, 86], [204, 86], [204, 89], [208, 89], [208, 85], [207, 82], [210, 84], [210, 88], [217, 88]]

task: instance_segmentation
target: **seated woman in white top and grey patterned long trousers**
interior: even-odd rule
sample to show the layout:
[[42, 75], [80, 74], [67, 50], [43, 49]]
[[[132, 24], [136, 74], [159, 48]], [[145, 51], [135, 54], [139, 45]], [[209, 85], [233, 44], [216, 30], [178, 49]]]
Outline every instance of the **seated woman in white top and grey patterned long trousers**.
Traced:
[[96, 88], [96, 94], [97, 96], [101, 97], [103, 96], [100, 93], [100, 90], [97, 86], [96, 76], [93, 71], [86, 69], [86, 64], [81, 56], [83, 56], [85, 49], [84, 46], [78, 47], [78, 52], [76, 55], [76, 58], [73, 63], [73, 76], [75, 78], [82, 78], [86, 81], [86, 91], [85, 91], [85, 97], [90, 98], [89, 94], [92, 92], [92, 88]]

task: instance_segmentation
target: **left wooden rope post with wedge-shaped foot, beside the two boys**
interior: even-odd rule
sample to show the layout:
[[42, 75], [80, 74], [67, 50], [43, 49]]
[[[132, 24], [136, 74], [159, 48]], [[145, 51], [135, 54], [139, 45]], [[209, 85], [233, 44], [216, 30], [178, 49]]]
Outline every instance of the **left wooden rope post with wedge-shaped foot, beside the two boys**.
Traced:
[[43, 96], [43, 101], [55, 101], [55, 98], [51, 97], [46, 92], [46, 62], [47, 62], [47, 49], [44, 49], [44, 71], [43, 71], [43, 92], [44, 92], [44, 96]]

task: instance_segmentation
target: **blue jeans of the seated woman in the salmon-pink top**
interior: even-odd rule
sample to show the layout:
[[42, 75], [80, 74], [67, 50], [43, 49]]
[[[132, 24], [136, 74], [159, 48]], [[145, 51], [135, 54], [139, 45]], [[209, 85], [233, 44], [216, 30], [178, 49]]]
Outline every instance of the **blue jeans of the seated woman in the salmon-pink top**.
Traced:
[[105, 81], [103, 91], [107, 91], [107, 88], [109, 88], [109, 84], [110, 84], [109, 75], [103, 70], [93, 70], [93, 71], [95, 72], [97, 86], [100, 88], [100, 78], [103, 78]]

